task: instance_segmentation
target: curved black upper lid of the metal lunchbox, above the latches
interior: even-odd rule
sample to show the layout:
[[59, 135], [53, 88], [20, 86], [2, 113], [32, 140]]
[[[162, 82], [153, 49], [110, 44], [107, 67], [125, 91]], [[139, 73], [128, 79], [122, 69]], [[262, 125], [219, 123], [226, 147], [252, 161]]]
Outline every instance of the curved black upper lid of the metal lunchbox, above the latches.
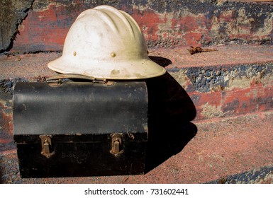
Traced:
[[112, 134], [147, 140], [147, 86], [143, 81], [16, 83], [13, 136], [16, 143], [40, 135], [102, 141]]

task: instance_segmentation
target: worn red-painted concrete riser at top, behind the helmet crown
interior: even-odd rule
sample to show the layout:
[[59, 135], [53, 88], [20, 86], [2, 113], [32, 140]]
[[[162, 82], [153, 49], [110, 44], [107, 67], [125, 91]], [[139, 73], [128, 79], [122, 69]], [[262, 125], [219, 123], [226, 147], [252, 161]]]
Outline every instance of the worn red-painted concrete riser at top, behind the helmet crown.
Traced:
[[[65, 35], [79, 13], [100, 4], [114, 6], [133, 16], [150, 47], [272, 44], [272, 2], [267, 4], [211, 0], [28, 0], [20, 4], [17, 1], [12, 2], [14, 5], [12, 7], [10, 1], [1, 4], [4, 9], [0, 18], [6, 23], [1, 23], [0, 26], [10, 34], [3, 34], [0, 37], [1, 40], [8, 42], [8, 45], [11, 42], [9, 50], [13, 52], [62, 50]], [[7, 17], [10, 13], [12, 17]], [[0, 43], [0, 51], [1, 49]]]

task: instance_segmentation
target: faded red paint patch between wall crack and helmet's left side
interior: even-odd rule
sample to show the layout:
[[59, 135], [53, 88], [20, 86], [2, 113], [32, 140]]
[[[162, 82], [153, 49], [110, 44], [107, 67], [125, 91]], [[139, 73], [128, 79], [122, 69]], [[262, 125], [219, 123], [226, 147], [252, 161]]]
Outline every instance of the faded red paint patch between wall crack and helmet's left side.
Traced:
[[29, 11], [28, 18], [18, 26], [20, 35], [14, 41], [14, 50], [23, 50], [31, 43], [30, 51], [62, 50], [67, 32], [77, 18], [67, 6], [49, 4], [39, 11]]

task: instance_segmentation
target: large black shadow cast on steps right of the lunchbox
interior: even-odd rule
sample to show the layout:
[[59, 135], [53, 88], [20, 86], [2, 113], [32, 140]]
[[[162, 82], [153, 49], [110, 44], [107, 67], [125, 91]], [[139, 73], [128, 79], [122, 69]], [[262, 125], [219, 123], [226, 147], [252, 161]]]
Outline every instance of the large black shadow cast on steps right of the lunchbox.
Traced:
[[149, 127], [147, 173], [182, 151], [196, 135], [197, 127], [191, 123], [196, 116], [194, 103], [171, 75], [166, 73], [163, 76], [149, 78], [146, 82]]

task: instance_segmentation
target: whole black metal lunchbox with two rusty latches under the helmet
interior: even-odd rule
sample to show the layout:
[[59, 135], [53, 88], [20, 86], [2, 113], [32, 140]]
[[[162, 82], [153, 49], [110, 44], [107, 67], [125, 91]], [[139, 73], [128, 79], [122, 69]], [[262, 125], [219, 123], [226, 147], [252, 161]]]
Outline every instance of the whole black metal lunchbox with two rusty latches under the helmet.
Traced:
[[21, 177], [145, 172], [143, 81], [16, 83], [13, 138]]

